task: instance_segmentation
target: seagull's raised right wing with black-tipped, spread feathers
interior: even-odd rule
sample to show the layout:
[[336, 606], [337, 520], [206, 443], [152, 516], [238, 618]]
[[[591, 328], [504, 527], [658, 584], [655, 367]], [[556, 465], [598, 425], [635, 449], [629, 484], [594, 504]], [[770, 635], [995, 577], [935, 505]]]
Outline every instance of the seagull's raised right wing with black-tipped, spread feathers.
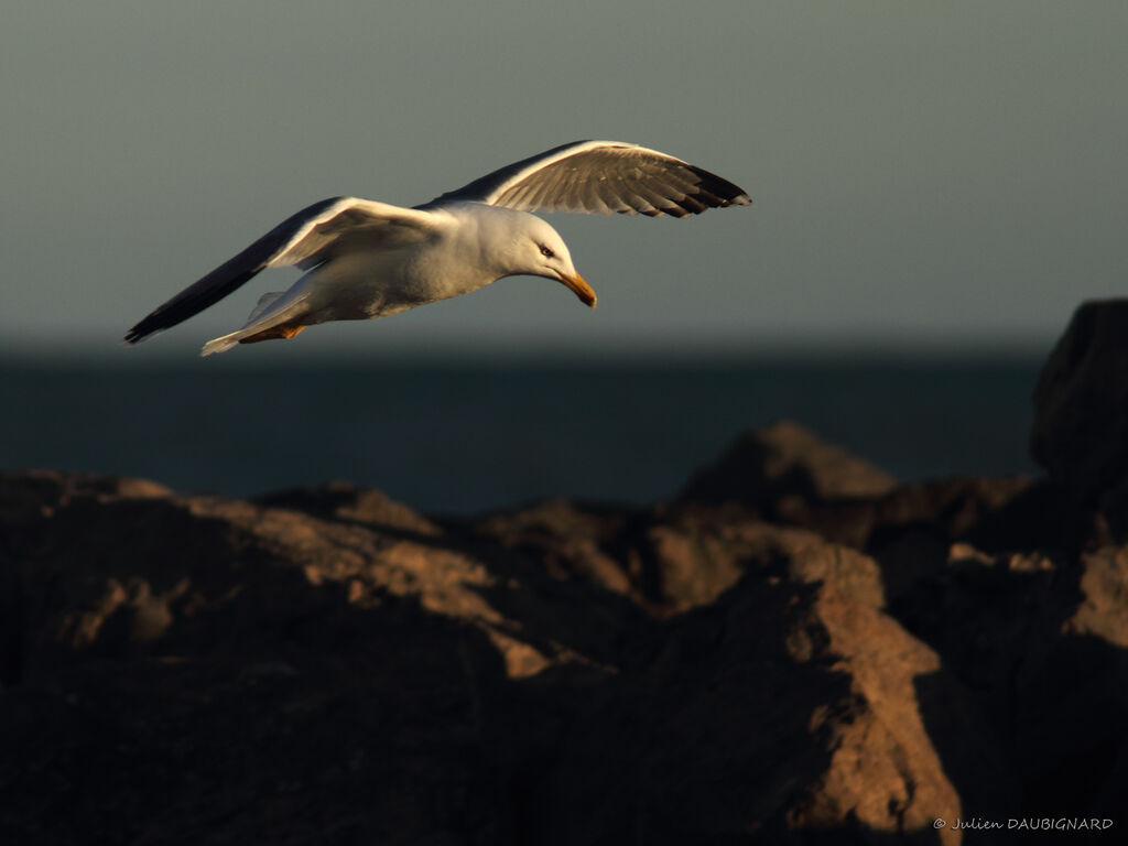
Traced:
[[743, 188], [708, 170], [618, 141], [563, 144], [494, 170], [432, 203], [458, 201], [520, 211], [676, 218], [751, 202]]

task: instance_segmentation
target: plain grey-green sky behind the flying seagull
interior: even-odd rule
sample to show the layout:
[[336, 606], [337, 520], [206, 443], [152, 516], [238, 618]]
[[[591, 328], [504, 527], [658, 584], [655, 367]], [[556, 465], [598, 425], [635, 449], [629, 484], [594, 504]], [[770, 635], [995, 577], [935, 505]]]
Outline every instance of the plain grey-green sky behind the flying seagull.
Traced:
[[[550, 215], [593, 312], [517, 277], [287, 343], [1048, 342], [1128, 289], [1126, 44], [1123, 0], [8, 0], [0, 349], [124, 355], [136, 319], [315, 200], [412, 205], [582, 138], [755, 205]], [[293, 279], [130, 355], [191, 354]]]

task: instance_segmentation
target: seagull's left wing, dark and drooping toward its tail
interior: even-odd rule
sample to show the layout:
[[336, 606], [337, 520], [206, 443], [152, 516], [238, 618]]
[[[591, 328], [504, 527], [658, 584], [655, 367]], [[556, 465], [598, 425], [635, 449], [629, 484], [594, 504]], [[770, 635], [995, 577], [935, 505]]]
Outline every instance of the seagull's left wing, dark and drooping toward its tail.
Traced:
[[425, 238], [433, 215], [358, 197], [329, 197], [292, 214], [125, 333], [135, 344], [219, 302], [266, 267], [309, 268], [351, 249]]

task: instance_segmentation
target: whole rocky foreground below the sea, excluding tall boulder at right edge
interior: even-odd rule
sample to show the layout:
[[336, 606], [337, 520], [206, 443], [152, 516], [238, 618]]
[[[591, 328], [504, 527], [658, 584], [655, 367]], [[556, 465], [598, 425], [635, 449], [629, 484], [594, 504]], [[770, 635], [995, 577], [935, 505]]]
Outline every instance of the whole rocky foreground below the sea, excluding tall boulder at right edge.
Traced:
[[0, 841], [1128, 825], [1128, 547], [1060, 486], [896, 485], [796, 432], [677, 502], [457, 521], [0, 476]]

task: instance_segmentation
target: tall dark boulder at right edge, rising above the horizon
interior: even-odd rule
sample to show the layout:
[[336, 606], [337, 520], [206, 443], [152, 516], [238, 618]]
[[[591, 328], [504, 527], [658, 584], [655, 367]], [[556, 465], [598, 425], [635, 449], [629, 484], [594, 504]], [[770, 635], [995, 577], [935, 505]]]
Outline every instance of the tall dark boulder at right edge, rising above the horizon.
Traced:
[[1084, 302], [1042, 368], [1030, 452], [1077, 497], [1128, 479], [1128, 299]]

